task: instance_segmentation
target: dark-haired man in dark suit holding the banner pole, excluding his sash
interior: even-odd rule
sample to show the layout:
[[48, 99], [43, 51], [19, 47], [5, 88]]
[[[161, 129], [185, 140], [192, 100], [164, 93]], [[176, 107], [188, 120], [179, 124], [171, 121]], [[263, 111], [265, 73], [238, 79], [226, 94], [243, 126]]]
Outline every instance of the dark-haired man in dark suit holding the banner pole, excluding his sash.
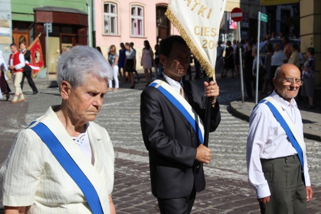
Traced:
[[[183, 38], [171, 36], [162, 40], [159, 60], [164, 65], [160, 79], [179, 92], [204, 121], [205, 97], [197, 85], [182, 80], [190, 64], [190, 49]], [[221, 120], [216, 100], [219, 87], [213, 81], [204, 82], [204, 86], [205, 96], [212, 97], [210, 131], [214, 131]], [[141, 94], [140, 124], [149, 152], [151, 191], [161, 213], [190, 213], [196, 191], [205, 189], [203, 163], [210, 163], [211, 149], [200, 144], [185, 116], [152, 86]]]

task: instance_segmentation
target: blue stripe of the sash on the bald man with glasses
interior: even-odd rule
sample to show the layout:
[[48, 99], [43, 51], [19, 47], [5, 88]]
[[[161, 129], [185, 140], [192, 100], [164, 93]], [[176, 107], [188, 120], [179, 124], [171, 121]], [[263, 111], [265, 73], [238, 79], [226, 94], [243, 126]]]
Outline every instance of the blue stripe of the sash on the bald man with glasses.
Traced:
[[[264, 102], [265, 102], [265, 100], [262, 100], [259, 103], [264, 103]], [[302, 151], [300, 145], [298, 144], [298, 142], [296, 141], [295, 137], [293, 136], [290, 127], [287, 125], [287, 123], [283, 119], [283, 117], [280, 114], [280, 112], [275, 108], [275, 106], [272, 103], [266, 102], [265, 104], [270, 108], [270, 110], [273, 113], [274, 117], [280, 123], [281, 127], [284, 129], [287, 137], [289, 138], [290, 142], [292, 143], [292, 146], [294, 147], [294, 149], [297, 152], [297, 156], [299, 157], [299, 160], [300, 160], [300, 163], [301, 163], [301, 167], [302, 167], [302, 170], [304, 172], [303, 151]]]

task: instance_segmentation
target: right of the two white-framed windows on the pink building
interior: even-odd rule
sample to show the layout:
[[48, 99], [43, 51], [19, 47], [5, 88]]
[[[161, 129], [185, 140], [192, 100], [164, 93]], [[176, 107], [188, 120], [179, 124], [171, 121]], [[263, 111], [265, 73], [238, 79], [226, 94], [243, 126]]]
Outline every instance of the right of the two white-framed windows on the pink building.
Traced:
[[144, 9], [131, 7], [131, 36], [144, 36]]

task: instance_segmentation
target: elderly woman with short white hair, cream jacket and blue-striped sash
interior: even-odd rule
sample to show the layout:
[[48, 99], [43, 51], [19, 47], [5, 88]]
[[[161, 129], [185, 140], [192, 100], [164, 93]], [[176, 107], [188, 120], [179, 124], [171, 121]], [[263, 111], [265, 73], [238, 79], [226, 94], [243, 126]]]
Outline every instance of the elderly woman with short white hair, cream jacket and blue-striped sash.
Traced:
[[110, 65], [93, 48], [61, 55], [61, 105], [19, 132], [0, 170], [5, 213], [116, 213], [113, 146], [93, 122], [110, 78]]

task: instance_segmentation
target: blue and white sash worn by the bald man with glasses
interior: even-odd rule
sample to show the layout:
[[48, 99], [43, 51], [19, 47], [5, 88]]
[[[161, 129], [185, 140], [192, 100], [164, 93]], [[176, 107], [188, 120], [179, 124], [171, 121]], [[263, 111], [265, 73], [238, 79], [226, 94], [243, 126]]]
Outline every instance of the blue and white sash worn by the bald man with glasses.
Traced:
[[304, 164], [306, 160], [306, 148], [304, 139], [299, 134], [299, 131], [297, 130], [296, 126], [292, 122], [289, 115], [286, 113], [286, 111], [281, 107], [280, 104], [278, 104], [272, 97], [267, 97], [264, 100], [261, 100], [259, 103], [266, 104], [276, 120], [280, 123], [281, 127], [284, 129], [287, 137], [289, 138], [290, 142], [292, 143], [292, 146], [297, 152], [297, 155], [299, 157], [299, 160], [301, 162], [302, 171], [304, 172]]

